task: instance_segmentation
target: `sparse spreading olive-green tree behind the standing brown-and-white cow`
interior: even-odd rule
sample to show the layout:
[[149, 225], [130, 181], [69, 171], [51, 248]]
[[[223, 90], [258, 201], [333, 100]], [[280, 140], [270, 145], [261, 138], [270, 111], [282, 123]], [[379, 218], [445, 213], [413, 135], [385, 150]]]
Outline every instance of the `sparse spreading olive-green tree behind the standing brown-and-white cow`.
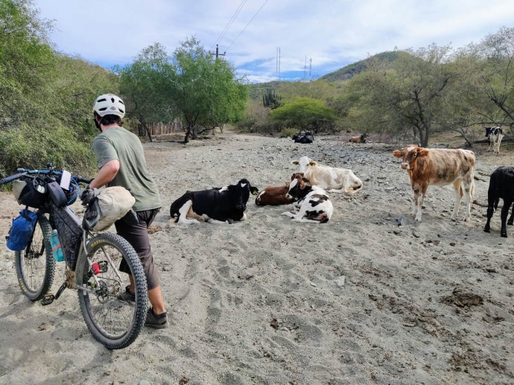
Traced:
[[409, 53], [400, 55], [393, 69], [371, 61], [350, 87], [360, 95], [361, 124], [396, 133], [412, 130], [427, 146], [432, 127], [446, 121], [442, 113], [452, 82], [447, 66], [451, 48], [433, 44]]

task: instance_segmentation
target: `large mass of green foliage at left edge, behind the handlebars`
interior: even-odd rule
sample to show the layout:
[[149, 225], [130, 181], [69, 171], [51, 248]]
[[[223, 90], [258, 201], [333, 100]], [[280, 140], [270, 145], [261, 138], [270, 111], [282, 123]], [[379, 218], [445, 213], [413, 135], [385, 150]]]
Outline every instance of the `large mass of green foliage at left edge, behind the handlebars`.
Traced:
[[0, 174], [16, 167], [94, 167], [91, 105], [116, 76], [54, 51], [51, 24], [27, 0], [0, 1]]

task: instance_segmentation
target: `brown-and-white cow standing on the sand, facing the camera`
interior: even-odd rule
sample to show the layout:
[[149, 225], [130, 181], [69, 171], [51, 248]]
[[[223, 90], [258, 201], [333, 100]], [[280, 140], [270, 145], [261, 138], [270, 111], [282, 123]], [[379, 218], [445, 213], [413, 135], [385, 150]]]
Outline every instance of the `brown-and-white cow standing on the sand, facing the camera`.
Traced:
[[[414, 205], [411, 215], [421, 221], [421, 207], [430, 184], [445, 186], [453, 184], [455, 207], [452, 219], [457, 218], [458, 209], [464, 196], [466, 203], [465, 221], [471, 218], [471, 202], [475, 189], [475, 155], [473, 151], [462, 149], [422, 148], [414, 145], [393, 152], [395, 158], [402, 158], [401, 168], [407, 170], [414, 190]], [[419, 197], [421, 195], [421, 197]]]

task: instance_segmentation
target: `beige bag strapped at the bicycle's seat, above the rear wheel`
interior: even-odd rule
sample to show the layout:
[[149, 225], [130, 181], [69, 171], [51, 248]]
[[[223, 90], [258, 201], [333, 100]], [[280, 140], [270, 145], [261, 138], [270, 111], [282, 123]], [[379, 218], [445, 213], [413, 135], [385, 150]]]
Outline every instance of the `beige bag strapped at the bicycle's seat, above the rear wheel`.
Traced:
[[84, 213], [82, 226], [96, 232], [105, 230], [121, 219], [134, 206], [136, 199], [121, 186], [107, 187], [91, 200]]

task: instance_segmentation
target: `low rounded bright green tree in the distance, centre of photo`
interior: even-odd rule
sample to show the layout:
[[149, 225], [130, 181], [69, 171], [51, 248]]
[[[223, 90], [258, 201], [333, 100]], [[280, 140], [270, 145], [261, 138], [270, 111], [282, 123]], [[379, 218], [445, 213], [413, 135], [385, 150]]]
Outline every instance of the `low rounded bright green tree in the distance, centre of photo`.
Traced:
[[337, 115], [322, 100], [295, 98], [271, 110], [269, 118], [271, 122], [284, 123], [286, 126], [298, 126], [301, 129], [313, 127], [318, 131], [320, 126], [333, 123]]

